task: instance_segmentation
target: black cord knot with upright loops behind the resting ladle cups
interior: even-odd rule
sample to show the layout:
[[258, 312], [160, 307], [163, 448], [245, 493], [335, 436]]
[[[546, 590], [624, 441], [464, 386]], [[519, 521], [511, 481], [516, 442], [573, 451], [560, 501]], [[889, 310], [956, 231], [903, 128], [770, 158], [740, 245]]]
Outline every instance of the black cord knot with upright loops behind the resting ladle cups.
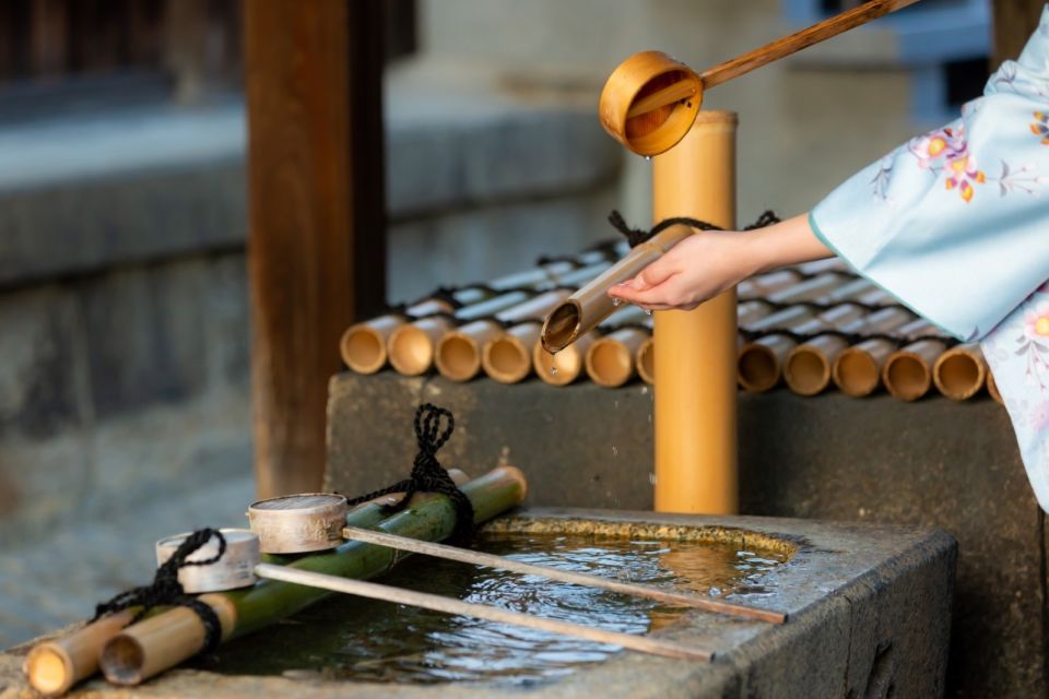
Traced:
[[[441, 427], [441, 419], [447, 423]], [[445, 446], [456, 428], [456, 418], [451, 411], [438, 407], [433, 403], [423, 403], [415, 410], [415, 441], [419, 443], [419, 453], [412, 466], [410, 477], [393, 485], [362, 495], [347, 500], [351, 507], [367, 502], [391, 493], [404, 493], [404, 497], [396, 505], [384, 507], [388, 513], [400, 512], [408, 507], [412, 496], [416, 493], [439, 493], [447, 495], [456, 509], [456, 529], [452, 536], [456, 538], [473, 533], [473, 505], [470, 498], [459, 489], [448, 472], [437, 461], [437, 451]]]

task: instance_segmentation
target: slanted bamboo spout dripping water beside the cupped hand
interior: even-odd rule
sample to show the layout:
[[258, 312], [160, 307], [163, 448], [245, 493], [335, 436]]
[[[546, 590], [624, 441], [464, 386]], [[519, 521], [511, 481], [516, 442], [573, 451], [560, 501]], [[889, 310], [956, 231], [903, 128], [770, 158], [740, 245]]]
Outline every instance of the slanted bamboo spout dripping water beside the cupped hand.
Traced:
[[637, 276], [641, 270], [693, 233], [688, 226], [670, 226], [632, 249], [603, 274], [554, 307], [543, 321], [540, 335], [543, 348], [556, 354], [593, 330], [615, 311], [616, 306], [608, 294], [612, 286]]

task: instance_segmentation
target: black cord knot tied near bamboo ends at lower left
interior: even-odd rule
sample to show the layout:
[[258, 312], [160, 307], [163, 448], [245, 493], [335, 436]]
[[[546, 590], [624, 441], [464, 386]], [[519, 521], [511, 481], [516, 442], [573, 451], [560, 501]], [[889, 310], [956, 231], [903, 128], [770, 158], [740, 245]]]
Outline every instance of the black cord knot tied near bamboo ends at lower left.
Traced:
[[[219, 553], [204, 560], [186, 560], [193, 552], [208, 543], [211, 537], [219, 540]], [[108, 602], [102, 602], [95, 606], [95, 616], [92, 621], [99, 617], [127, 609], [128, 607], [142, 608], [134, 615], [132, 624], [140, 620], [153, 607], [178, 606], [189, 607], [200, 617], [204, 625], [204, 648], [203, 652], [210, 652], [219, 645], [222, 640], [222, 623], [219, 615], [210, 606], [192, 595], [186, 594], [182, 590], [182, 583], [178, 581], [179, 568], [186, 566], [210, 566], [217, 562], [226, 553], [226, 540], [219, 530], [199, 529], [186, 537], [172, 557], [157, 567], [156, 574], [153, 578], [153, 584], [141, 588], [132, 588], [121, 592]]]

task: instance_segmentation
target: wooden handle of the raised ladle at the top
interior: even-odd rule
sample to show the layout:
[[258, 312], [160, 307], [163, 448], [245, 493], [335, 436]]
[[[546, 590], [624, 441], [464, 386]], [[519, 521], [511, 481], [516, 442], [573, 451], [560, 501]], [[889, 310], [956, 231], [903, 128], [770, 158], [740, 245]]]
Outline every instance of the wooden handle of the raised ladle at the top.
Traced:
[[699, 79], [703, 81], [704, 88], [714, 87], [733, 78], [749, 73], [755, 68], [771, 63], [785, 56], [790, 56], [813, 44], [829, 39], [842, 32], [847, 32], [861, 24], [867, 24], [871, 20], [876, 20], [889, 12], [895, 12], [916, 2], [918, 2], [918, 0], [871, 0], [870, 2], [864, 2], [851, 10], [828, 17], [818, 24], [813, 24], [806, 29], [801, 29], [790, 36], [776, 39], [771, 44], [766, 44], [749, 54], [733, 58], [720, 66], [715, 66], [702, 73]]

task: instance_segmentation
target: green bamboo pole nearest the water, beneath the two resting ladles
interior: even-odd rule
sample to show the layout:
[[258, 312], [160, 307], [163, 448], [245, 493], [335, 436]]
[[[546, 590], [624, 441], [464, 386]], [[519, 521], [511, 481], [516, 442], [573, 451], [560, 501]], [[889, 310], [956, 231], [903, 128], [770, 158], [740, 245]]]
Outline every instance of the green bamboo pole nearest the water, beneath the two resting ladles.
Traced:
[[[475, 521], [484, 522], [519, 505], [527, 490], [523, 474], [514, 466], [499, 466], [462, 486], [474, 508]], [[455, 508], [447, 496], [428, 495], [413, 500], [409, 510], [382, 521], [382, 531], [412, 538], [447, 538], [455, 530]], [[306, 556], [288, 569], [370, 578], [389, 570], [400, 557], [393, 549], [349, 542], [333, 552]], [[263, 580], [251, 588], [198, 597], [220, 615], [222, 640], [258, 630], [317, 602], [328, 592], [299, 584]], [[185, 607], [176, 607], [125, 629], [106, 643], [102, 670], [118, 685], [138, 685], [200, 652], [204, 627]]]

